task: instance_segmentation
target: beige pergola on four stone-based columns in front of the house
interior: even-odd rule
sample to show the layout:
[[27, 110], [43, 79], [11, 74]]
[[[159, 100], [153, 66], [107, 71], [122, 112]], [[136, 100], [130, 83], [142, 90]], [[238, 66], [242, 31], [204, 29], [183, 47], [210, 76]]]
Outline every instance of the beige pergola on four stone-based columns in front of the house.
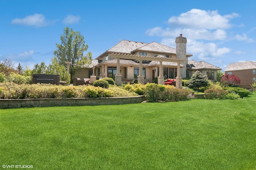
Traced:
[[142, 61], [159, 61], [159, 76], [158, 76], [158, 84], [164, 84], [164, 76], [163, 76], [163, 66], [162, 62], [173, 62], [177, 63], [177, 77], [176, 77], [176, 87], [182, 88], [182, 77], [180, 76], [180, 63], [184, 62], [184, 59], [174, 59], [174, 58], [167, 58], [162, 55], [157, 56], [149, 56], [149, 55], [134, 55], [134, 54], [127, 54], [127, 53], [110, 53], [111, 58], [117, 59], [116, 63], [116, 84], [121, 85], [122, 75], [120, 74], [120, 59], [134, 59], [140, 61], [139, 66], [139, 76], [138, 76], [138, 83], [143, 84], [144, 76], [142, 72]]

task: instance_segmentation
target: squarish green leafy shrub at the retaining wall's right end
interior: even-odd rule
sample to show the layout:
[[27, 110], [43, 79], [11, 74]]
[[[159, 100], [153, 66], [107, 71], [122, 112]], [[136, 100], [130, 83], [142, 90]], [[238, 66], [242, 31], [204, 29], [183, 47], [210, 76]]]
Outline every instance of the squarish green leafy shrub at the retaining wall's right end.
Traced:
[[146, 84], [145, 97], [150, 102], [157, 102], [162, 100], [164, 89], [164, 85], [148, 83]]

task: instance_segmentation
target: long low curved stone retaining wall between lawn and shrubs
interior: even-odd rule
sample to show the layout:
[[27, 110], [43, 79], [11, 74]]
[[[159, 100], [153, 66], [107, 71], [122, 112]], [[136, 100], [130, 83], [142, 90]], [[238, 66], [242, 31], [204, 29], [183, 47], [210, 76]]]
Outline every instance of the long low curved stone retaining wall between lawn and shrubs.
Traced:
[[134, 104], [141, 103], [145, 100], [145, 96], [135, 96], [126, 98], [1, 99], [0, 109], [20, 107]]

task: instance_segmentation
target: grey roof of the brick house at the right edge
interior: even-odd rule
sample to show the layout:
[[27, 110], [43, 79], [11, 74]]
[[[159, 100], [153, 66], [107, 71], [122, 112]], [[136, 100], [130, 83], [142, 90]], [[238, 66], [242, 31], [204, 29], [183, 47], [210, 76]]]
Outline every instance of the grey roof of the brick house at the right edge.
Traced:
[[230, 63], [228, 64], [225, 71], [248, 70], [248, 69], [256, 69], [256, 62], [243, 61], [238, 63]]

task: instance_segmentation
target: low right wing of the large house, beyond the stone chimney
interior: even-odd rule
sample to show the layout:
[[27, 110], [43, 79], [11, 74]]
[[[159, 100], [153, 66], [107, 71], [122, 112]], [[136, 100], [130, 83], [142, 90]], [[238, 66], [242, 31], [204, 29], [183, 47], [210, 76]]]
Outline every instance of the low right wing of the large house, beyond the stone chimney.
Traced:
[[194, 72], [196, 72], [196, 70], [202, 72], [203, 75], [207, 75], [209, 80], [217, 81], [217, 71], [222, 69], [212, 64], [209, 64], [205, 61], [188, 61], [187, 77], [191, 77], [194, 74]]

